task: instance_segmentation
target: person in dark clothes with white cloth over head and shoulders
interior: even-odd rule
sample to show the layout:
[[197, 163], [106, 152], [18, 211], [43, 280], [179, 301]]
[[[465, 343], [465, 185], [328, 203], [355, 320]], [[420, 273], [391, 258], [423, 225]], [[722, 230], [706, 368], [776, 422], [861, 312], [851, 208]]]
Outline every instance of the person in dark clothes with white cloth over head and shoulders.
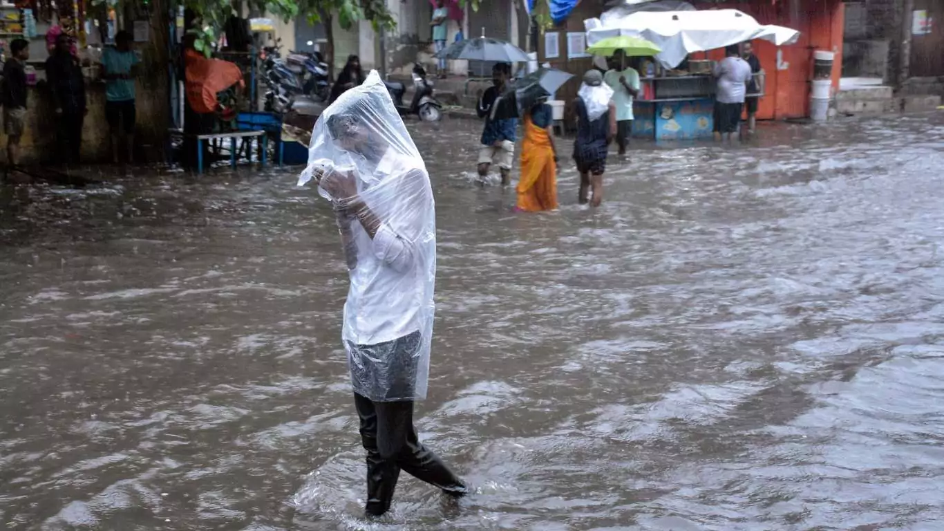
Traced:
[[578, 200], [587, 202], [593, 188], [590, 206], [598, 207], [603, 200], [603, 172], [606, 170], [608, 146], [616, 134], [616, 110], [613, 89], [603, 84], [598, 70], [583, 75], [581, 90], [574, 100], [577, 114], [577, 139], [574, 141], [574, 162], [581, 174]]

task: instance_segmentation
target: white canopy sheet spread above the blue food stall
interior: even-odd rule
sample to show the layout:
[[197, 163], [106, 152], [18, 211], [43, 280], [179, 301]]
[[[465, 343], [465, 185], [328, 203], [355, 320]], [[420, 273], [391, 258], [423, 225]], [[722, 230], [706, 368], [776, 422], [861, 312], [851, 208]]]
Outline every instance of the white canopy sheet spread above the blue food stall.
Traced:
[[656, 43], [656, 56], [666, 68], [675, 68], [692, 52], [723, 48], [730, 44], [764, 39], [778, 46], [796, 43], [800, 32], [784, 26], [763, 26], [754, 17], [737, 9], [702, 11], [637, 11], [604, 21], [583, 21], [587, 44], [616, 35], [638, 35]]

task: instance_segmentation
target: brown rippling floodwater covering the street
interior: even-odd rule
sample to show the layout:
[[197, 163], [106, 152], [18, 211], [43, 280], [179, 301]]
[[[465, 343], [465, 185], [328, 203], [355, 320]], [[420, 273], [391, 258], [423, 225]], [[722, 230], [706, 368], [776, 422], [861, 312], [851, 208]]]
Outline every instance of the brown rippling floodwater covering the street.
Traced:
[[[0, 194], [0, 527], [944, 528], [944, 113], [640, 144], [597, 211], [514, 214], [480, 125], [437, 201], [421, 437], [362, 518], [329, 205], [267, 169]], [[570, 141], [558, 141], [570, 153]], [[516, 176], [516, 170], [515, 170]]]

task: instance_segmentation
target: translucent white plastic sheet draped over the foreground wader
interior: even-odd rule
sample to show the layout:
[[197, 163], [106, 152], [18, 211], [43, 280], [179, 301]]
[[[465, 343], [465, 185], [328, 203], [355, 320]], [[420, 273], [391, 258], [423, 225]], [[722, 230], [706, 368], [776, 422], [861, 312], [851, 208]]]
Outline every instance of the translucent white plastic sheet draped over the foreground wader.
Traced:
[[[348, 256], [342, 330], [354, 390], [377, 402], [422, 400], [432, 337], [435, 209], [426, 166], [376, 71], [315, 123], [298, 184], [319, 175], [326, 176], [319, 181], [323, 197], [364, 206], [339, 221], [354, 254]], [[353, 179], [357, 195], [331, 197], [320, 186], [331, 175]], [[373, 238], [363, 227], [364, 212], [379, 220]]]

